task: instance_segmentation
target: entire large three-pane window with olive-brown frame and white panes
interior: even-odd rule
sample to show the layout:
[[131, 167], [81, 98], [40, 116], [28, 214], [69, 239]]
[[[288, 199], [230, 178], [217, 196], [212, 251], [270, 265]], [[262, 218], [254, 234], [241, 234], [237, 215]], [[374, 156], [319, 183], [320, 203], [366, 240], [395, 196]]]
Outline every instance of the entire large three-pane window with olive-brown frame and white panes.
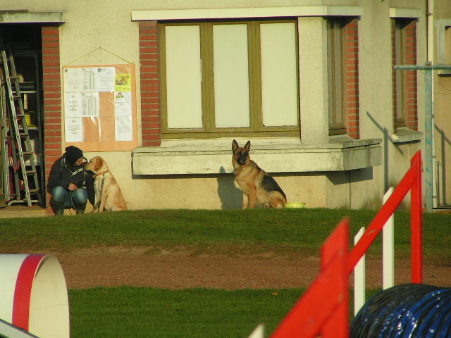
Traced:
[[160, 37], [163, 137], [299, 134], [294, 20], [164, 23]]

